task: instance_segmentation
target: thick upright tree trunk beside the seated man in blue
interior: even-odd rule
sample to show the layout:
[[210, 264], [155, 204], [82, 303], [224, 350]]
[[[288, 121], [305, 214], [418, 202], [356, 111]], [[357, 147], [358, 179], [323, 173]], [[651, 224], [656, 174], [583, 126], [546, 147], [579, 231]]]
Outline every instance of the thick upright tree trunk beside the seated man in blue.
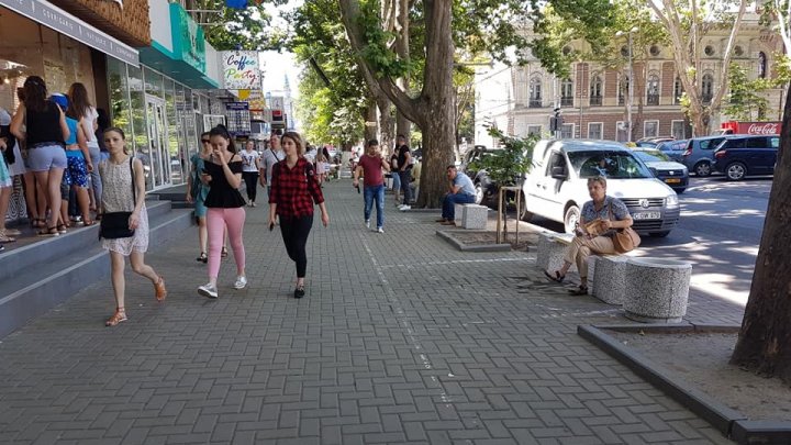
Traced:
[[454, 43], [450, 1], [426, 0], [426, 68], [417, 125], [423, 132], [423, 166], [417, 207], [438, 208], [447, 193], [445, 168], [456, 143], [456, 89], [453, 84]]

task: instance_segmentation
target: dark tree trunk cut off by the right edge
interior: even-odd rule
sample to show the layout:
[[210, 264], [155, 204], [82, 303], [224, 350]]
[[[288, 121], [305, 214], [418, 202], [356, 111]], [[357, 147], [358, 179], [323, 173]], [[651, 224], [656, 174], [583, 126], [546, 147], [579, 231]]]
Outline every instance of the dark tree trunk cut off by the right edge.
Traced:
[[[791, 92], [791, 91], [790, 91]], [[731, 363], [791, 383], [791, 93], [742, 331]]]

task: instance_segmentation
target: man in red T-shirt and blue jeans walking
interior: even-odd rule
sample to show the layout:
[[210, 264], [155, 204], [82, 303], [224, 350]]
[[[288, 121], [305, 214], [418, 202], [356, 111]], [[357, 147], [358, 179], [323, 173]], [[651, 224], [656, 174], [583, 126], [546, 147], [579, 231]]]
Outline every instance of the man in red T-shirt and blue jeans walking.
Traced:
[[363, 175], [363, 197], [365, 199], [363, 216], [366, 227], [370, 229], [370, 213], [376, 199], [377, 226], [374, 231], [378, 233], [385, 233], [385, 174], [382, 170], [390, 171], [390, 165], [379, 151], [379, 141], [370, 140], [366, 146], [366, 153], [360, 156], [359, 164], [355, 168], [352, 185], [359, 187], [359, 177]]

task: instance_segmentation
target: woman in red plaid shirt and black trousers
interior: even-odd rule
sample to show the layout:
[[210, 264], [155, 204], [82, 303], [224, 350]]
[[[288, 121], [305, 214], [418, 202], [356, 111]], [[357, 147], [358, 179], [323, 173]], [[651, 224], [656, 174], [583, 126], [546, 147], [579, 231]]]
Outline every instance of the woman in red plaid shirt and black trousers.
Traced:
[[305, 243], [313, 226], [313, 205], [319, 204], [322, 224], [330, 224], [330, 214], [324, 205], [324, 196], [317, 175], [304, 158], [302, 137], [296, 132], [286, 132], [280, 138], [286, 158], [272, 168], [269, 185], [269, 230], [280, 215], [280, 233], [289, 258], [297, 263], [297, 288], [294, 298], [304, 297], [304, 276], [308, 268]]

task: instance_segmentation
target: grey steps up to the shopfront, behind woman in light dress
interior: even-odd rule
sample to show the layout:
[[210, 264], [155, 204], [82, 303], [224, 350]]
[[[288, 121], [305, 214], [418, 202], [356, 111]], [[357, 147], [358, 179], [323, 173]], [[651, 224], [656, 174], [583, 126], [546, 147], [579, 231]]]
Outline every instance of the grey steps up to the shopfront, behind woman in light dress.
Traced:
[[[172, 210], [170, 201], [146, 200], [146, 208], [149, 252], [192, 225], [192, 212]], [[98, 240], [99, 224], [0, 254], [0, 337], [104, 279], [110, 260]]]

